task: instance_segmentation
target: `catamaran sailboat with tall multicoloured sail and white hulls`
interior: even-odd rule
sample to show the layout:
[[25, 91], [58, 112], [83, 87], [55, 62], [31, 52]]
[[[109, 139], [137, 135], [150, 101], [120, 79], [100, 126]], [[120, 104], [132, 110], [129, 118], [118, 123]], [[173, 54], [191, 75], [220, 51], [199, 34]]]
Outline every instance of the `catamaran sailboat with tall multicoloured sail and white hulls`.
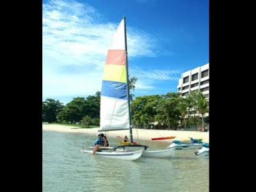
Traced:
[[[125, 17], [120, 22], [108, 50], [100, 95], [99, 131], [118, 130], [129, 130], [130, 143], [133, 143]], [[139, 147], [142, 149], [137, 150]], [[136, 160], [140, 156], [169, 156], [170, 151], [173, 150], [148, 152], [146, 151], [147, 148], [146, 145], [129, 144], [115, 147], [112, 152], [97, 151], [96, 154], [118, 159]], [[100, 149], [104, 149], [104, 147]], [[92, 150], [83, 150], [83, 152], [92, 153]]]

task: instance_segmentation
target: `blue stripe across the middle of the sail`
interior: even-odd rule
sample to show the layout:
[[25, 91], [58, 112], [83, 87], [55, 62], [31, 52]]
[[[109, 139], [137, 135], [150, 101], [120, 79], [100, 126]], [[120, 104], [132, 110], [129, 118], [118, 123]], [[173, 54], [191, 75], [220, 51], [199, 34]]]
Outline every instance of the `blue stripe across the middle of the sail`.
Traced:
[[127, 99], [126, 83], [102, 81], [101, 95], [116, 99]]

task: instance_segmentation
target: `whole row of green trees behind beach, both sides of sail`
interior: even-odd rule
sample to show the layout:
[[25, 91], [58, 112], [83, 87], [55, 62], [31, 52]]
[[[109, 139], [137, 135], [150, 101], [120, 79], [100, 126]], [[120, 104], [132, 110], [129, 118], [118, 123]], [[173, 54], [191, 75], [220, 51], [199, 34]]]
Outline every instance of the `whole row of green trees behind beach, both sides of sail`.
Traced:
[[[136, 78], [133, 81], [136, 82]], [[134, 82], [130, 86], [133, 90]], [[180, 93], [140, 96], [134, 100], [131, 98], [132, 125], [143, 129], [182, 127], [184, 130], [188, 126], [204, 126], [208, 108], [209, 102], [200, 91], [191, 92], [186, 98], [180, 97]], [[83, 124], [84, 127], [99, 125], [100, 92], [85, 99], [73, 98], [66, 105], [48, 98], [42, 104], [42, 120], [49, 123]]]

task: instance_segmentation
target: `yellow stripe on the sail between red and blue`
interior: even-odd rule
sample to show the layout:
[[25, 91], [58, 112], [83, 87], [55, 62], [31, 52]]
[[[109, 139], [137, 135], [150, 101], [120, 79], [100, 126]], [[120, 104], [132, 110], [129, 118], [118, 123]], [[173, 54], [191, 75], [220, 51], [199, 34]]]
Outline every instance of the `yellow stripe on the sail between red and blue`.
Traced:
[[102, 80], [127, 83], [126, 78], [125, 65], [105, 65]]

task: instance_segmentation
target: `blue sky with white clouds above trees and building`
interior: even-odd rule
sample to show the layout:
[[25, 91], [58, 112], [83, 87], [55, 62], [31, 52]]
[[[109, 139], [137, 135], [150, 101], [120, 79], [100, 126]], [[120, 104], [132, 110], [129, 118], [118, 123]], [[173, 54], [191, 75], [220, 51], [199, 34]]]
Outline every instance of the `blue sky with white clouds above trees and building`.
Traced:
[[182, 72], [209, 63], [209, 0], [43, 1], [43, 100], [100, 91], [124, 15], [135, 96], [177, 92]]

